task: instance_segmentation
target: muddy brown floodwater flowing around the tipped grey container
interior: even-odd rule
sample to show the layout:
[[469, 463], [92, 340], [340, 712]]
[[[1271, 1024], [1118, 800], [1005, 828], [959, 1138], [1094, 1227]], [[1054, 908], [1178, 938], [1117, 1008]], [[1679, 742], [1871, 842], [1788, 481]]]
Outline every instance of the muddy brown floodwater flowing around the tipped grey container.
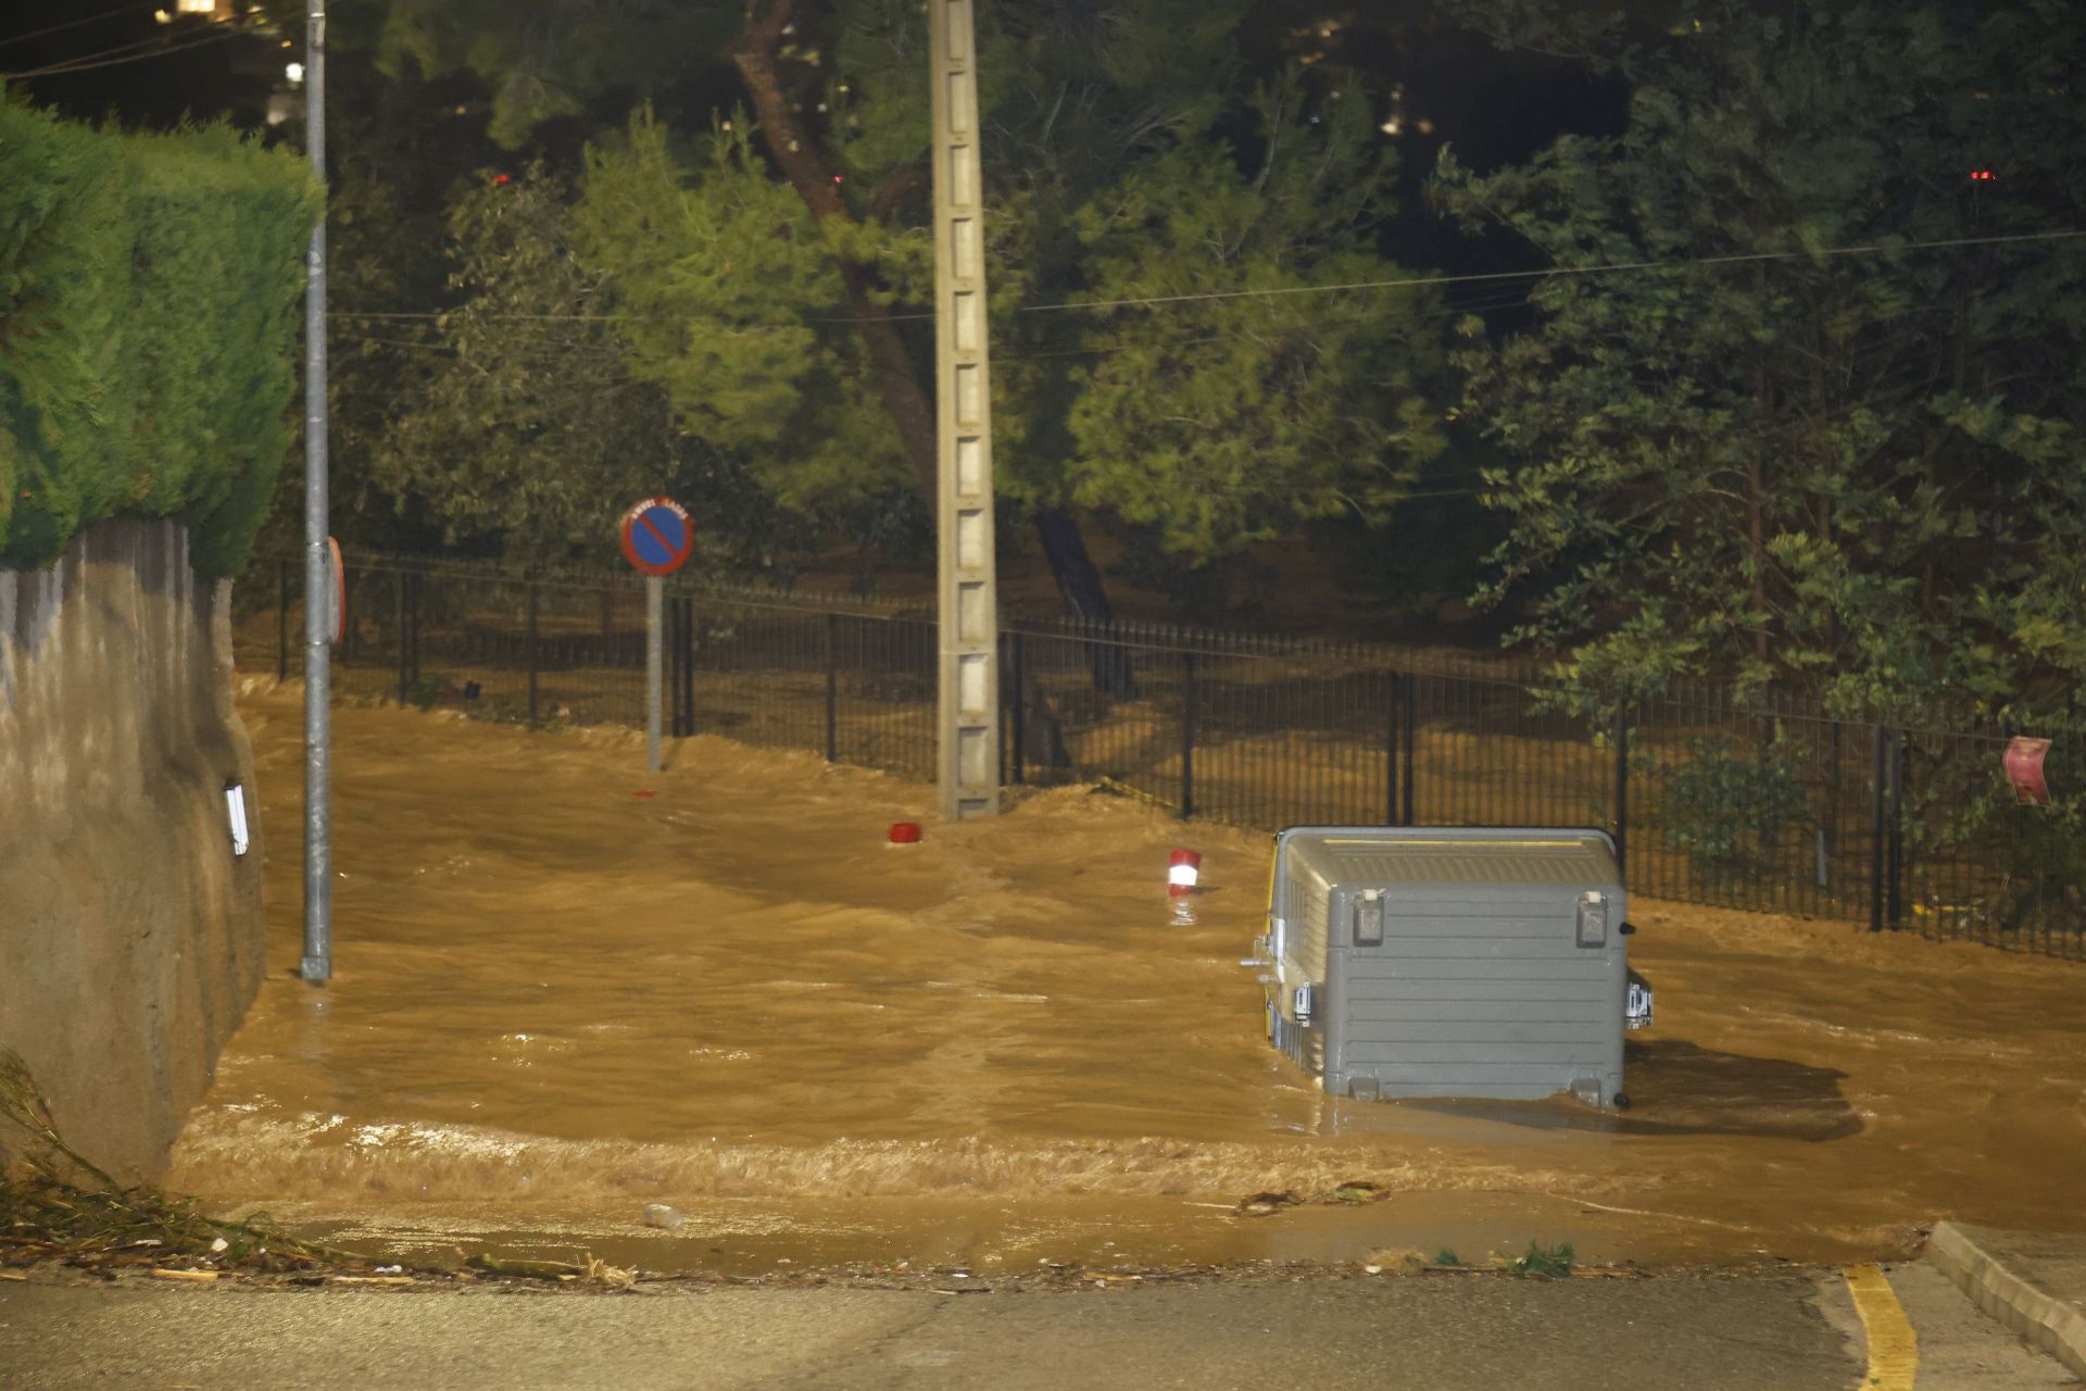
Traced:
[[[1239, 968], [1268, 836], [1083, 788], [941, 826], [932, 788], [720, 738], [647, 776], [624, 730], [336, 709], [315, 989], [298, 701], [242, 699], [269, 978], [167, 1174], [223, 1207], [653, 1270], [1848, 1260], [1944, 1216], [2086, 1226], [2080, 966], [1640, 899], [1658, 1024], [1625, 1120], [1329, 1101]], [[1185, 903], [1174, 845], [1204, 855]], [[1356, 1180], [1391, 1197], [1235, 1212]]]

